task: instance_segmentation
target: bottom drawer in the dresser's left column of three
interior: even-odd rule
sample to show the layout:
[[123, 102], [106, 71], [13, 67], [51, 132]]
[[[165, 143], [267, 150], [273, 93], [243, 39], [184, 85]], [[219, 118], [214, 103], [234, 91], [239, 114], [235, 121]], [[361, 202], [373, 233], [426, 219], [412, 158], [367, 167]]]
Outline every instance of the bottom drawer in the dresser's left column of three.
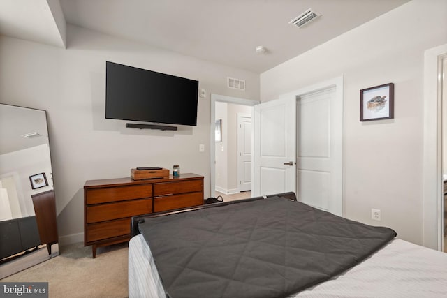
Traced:
[[131, 218], [87, 225], [87, 242], [131, 234]]

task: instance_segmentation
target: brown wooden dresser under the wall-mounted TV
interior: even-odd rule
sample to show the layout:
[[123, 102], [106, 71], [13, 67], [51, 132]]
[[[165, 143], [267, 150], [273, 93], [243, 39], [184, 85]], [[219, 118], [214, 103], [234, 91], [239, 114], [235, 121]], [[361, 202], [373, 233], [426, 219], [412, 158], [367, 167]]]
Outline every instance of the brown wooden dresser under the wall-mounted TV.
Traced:
[[203, 204], [203, 176], [89, 180], [84, 185], [84, 245], [96, 248], [129, 241], [131, 217]]

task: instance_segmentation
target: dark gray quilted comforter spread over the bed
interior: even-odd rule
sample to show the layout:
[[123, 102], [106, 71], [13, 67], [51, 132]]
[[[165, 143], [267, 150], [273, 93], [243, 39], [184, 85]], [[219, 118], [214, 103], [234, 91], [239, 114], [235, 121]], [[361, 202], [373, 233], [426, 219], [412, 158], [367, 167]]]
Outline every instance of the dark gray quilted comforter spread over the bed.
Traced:
[[286, 297], [396, 235], [284, 198], [145, 218], [139, 229], [173, 298]]

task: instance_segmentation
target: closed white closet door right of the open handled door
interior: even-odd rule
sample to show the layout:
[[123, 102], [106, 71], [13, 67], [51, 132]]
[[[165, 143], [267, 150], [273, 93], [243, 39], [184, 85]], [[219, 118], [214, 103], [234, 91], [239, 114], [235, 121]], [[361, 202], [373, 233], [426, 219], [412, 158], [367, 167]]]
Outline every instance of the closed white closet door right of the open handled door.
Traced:
[[330, 87], [297, 98], [297, 196], [342, 216], [342, 104]]

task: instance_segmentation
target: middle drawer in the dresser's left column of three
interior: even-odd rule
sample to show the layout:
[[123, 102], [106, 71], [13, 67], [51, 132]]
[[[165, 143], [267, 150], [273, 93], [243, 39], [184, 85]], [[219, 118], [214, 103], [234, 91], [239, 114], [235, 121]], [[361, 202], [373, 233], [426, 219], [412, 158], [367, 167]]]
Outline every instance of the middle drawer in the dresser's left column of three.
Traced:
[[110, 221], [152, 212], [152, 199], [132, 200], [87, 207], [87, 223]]

